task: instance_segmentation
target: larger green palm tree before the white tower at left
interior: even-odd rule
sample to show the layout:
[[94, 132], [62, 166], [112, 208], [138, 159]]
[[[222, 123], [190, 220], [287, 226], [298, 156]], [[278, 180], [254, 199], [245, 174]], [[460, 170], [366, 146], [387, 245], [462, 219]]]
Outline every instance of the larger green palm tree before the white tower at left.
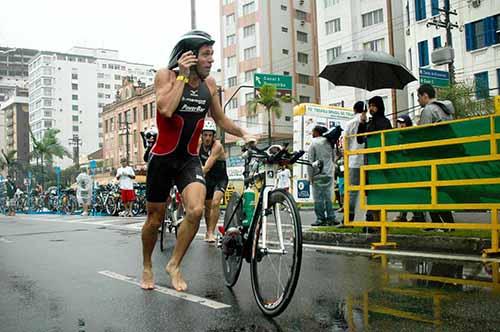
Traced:
[[42, 187], [44, 186], [44, 161], [47, 165], [52, 165], [54, 162], [54, 157], [63, 158], [71, 157], [71, 154], [59, 143], [57, 139], [57, 134], [59, 134], [59, 129], [50, 128], [47, 129], [43, 135], [43, 138], [38, 141], [33, 135], [30, 128], [30, 136], [33, 141], [33, 151], [31, 153], [32, 158], [36, 158], [37, 164], [40, 160], [40, 165], [42, 166]]

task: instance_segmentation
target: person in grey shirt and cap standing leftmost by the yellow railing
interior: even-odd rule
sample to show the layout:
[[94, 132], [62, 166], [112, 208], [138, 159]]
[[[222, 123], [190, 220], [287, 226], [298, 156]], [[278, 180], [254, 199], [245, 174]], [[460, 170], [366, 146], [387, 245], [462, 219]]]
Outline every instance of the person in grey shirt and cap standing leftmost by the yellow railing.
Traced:
[[313, 168], [309, 166], [307, 172], [311, 182], [314, 198], [314, 213], [316, 222], [311, 226], [333, 226], [337, 225], [335, 210], [333, 209], [332, 187], [334, 179], [334, 153], [328, 140], [323, 137], [328, 129], [323, 126], [315, 126], [312, 130], [312, 142], [308, 151], [309, 162], [321, 160], [323, 169], [319, 174], [313, 174]]

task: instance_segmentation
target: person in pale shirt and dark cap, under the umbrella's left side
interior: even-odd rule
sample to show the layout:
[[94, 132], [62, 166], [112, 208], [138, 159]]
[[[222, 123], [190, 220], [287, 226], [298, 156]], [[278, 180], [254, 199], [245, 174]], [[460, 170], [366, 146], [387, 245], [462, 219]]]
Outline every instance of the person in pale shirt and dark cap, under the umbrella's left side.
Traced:
[[[365, 103], [358, 101], [354, 104], [354, 118], [349, 120], [345, 125], [344, 135], [351, 136], [358, 133], [358, 127], [360, 122], [361, 113], [363, 113], [365, 108]], [[348, 150], [359, 150], [364, 149], [363, 144], [359, 144], [356, 137], [349, 137], [346, 141], [346, 146], [344, 147]], [[349, 185], [358, 186], [359, 185], [359, 169], [361, 165], [364, 164], [363, 155], [356, 154], [349, 156]], [[349, 193], [349, 220], [354, 220], [354, 214], [356, 212], [356, 202], [358, 199], [358, 192], [351, 191]]]

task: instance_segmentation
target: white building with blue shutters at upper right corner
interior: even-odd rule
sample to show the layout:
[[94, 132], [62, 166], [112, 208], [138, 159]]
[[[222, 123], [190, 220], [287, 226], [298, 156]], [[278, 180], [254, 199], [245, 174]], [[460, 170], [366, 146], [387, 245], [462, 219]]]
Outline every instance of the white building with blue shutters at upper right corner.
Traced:
[[[405, 44], [407, 64], [415, 77], [419, 69], [448, 70], [447, 65], [436, 66], [431, 53], [446, 45], [446, 30], [427, 27], [427, 22], [441, 15], [445, 0], [403, 0], [405, 6]], [[457, 81], [475, 84], [471, 98], [481, 99], [485, 91], [500, 93], [500, 6], [496, 0], [451, 1], [451, 20], [461, 28], [452, 30]], [[419, 115], [417, 89], [419, 83], [408, 86], [410, 107]], [[495, 89], [496, 88], [496, 89]]]

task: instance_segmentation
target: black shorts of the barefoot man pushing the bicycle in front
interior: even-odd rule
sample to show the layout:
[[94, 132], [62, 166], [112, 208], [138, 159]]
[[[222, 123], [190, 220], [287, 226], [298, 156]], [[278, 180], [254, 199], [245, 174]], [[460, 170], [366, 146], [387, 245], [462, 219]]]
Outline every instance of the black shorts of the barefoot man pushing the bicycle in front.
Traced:
[[172, 185], [182, 193], [193, 182], [205, 184], [201, 162], [198, 156], [179, 158], [152, 154], [148, 162], [146, 176], [146, 200], [151, 203], [164, 203]]

